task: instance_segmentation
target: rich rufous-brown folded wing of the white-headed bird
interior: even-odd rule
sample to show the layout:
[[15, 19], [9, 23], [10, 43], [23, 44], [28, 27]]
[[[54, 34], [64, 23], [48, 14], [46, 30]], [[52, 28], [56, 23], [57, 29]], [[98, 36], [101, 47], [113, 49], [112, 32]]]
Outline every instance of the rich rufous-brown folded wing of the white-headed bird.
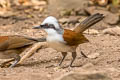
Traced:
[[64, 30], [64, 40], [70, 46], [76, 46], [78, 44], [88, 42], [88, 39], [82, 33], [76, 33], [72, 30]]

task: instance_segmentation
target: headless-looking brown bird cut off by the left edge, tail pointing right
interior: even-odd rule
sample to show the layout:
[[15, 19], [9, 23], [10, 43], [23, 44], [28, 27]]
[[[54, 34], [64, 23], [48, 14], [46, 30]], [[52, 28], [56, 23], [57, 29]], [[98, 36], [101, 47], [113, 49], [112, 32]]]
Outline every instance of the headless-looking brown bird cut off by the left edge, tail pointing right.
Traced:
[[[1, 64], [1, 67], [13, 68], [20, 61], [20, 54], [36, 42], [44, 42], [45, 38], [31, 38], [20, 35], [0, 36], [0, 59], [10, 59]], [[8, 63], [13, 64], [8, 65]]]

